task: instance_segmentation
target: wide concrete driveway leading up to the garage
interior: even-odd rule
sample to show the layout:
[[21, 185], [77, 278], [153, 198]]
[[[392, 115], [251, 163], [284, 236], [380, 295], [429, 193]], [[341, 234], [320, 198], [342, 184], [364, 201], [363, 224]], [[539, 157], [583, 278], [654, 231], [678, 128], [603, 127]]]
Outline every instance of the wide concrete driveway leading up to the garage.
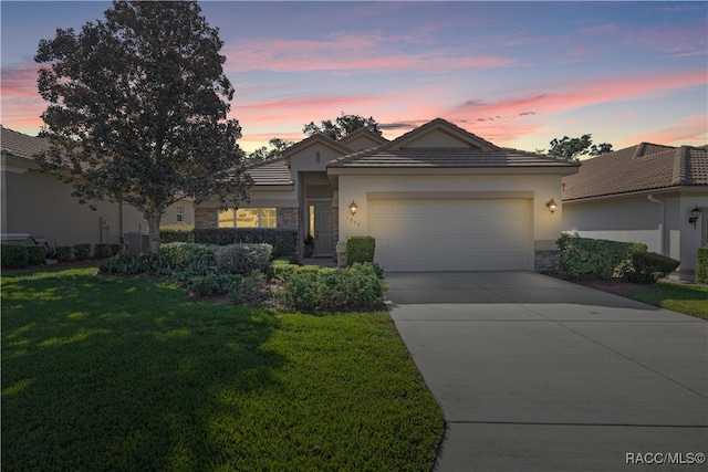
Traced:
[[708, 470], [705, 321], [530, 272], [385, 277], [447, 420], [436, 470]]

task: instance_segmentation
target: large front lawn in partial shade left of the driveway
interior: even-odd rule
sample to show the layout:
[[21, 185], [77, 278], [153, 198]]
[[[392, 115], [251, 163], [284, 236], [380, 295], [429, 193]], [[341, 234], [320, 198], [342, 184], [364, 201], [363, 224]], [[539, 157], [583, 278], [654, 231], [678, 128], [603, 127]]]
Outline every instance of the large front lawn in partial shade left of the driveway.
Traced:
[[442, 413], [386, 312], [94, 271], [3, 274], [3, 471], [431, 468]]

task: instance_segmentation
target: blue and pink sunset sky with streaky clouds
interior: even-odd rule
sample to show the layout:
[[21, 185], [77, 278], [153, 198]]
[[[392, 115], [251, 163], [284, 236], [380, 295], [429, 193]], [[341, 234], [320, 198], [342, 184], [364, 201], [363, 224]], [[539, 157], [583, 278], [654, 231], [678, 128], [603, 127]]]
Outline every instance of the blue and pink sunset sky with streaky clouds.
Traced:
[[[708, 2], [200, 2], [247, 151], [305, 123], [373, 116], [392, 139], [436, 117], [497, 145], [590, 133], [615, 149], [708, 143]], [[35, 135], [33, 56], [110, 2], [0, 2], [3, 126]]]

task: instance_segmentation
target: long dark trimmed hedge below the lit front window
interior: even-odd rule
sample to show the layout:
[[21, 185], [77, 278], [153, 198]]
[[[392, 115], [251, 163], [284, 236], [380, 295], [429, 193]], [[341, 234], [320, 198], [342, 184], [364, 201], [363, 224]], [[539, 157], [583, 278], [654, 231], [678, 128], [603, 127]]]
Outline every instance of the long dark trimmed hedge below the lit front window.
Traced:
[[298, 230], [282, 228], [197, 228], [194, 239], [201, 244], [270, 244], [273, 258], [295, 258], [299, 248]]

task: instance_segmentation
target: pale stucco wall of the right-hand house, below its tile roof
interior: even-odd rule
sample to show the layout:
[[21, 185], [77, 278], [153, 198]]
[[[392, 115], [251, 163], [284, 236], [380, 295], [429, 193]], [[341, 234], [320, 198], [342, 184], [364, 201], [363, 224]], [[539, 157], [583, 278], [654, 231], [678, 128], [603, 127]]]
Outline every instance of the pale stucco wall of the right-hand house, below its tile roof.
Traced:
[[[698, 248], [708, 244], [701, 218], [696, 228], [688, 222], [694, 207], [708, 212], [708, 190], [680, 191], [565, 202], [563, 231], [583, 238], [643, 242], [648, 250], [680, 261], [680, 279], [690, 280], [696, 270]], [[656, 201], [652, 201], [656, 200]]]

